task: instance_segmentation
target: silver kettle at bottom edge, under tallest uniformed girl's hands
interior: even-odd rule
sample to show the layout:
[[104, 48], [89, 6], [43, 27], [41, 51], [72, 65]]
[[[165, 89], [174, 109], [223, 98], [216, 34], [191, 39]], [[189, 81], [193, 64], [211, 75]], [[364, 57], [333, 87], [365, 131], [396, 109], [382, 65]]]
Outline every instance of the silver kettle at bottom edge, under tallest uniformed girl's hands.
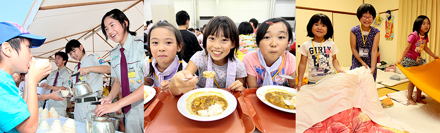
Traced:
[[[90, 103], [88, 105], [90, 105]], [[88, 112], [90, 112], [90, 109], [88, 109]], [[92, 115], [91, 112], [90, 115]], [[91, 121], [88, 121], [87, 118], [84, 118], [86, 119], [86, 133], [115, 133], [113, 122], [108, 118], [108, 116], [103, 115], [98, 117], [93, 115], [91, 118]]]

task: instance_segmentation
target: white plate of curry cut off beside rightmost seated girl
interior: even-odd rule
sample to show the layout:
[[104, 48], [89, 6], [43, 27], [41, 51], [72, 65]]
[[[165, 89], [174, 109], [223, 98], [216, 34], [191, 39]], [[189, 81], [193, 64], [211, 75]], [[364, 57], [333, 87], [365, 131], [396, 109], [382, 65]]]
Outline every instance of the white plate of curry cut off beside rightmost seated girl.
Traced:
[[264, 95], [267, 93], [267, 90], [271, 89], [271, 88], [275, 88], [275, 89], [280, 89], [280, 90], [285, 90], [287, 92], [293, 93], [296, 95], [296, 91], [293, 88], [289, 88], [289, 87], [285, 87], [285, 86], [277, 86], [277, 85], [268, 85], [268, 86], [262, 86], [260, 88], [257, 89], [257, 97], [258, 99], [260, 99], [261, 101], [263, 101], [265, 104], [269, 105], [270, 107], [273, 107], [275, 109], [284, 111], [284, 112], [289, 112], [289, 113], [296, 113], [296, 109], [285, 109], [282, 107], [278, 107], [276, 105], [273, 105], [272, 103], [270, 103], [269, 101], [266, 100], [266, 98], [264, 98]]

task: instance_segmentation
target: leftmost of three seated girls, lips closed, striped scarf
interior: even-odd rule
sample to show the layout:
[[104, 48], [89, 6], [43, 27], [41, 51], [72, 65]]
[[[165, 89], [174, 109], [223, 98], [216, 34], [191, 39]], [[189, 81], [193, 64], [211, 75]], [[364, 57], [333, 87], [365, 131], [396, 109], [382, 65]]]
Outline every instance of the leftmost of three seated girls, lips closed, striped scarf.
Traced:
[[151, 27], [147, 41], [150, 53], [144, 61], [145, 85], [168, 89], [174, 74], [187, 65], [182, 61], [181, 34], [173, 25], [161, 21]]

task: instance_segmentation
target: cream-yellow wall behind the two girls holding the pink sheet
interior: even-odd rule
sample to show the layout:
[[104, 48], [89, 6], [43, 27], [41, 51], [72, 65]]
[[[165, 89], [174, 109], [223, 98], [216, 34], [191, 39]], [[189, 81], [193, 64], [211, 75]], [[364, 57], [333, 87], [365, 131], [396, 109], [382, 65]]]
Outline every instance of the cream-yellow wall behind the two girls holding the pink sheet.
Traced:
[[[310, 2], [312, 1], [312, 2]], [[322, 3], [322, 4], [310, 4], [310, 3]], [[389, 0], [384, 2], [383, 0], [365, 0], [365, 3], [372, 4], [377, 13], [384, 12], [386, 10], [393, 10], [398, 8], [398, 0]], [[345, 6], [341, 6], [344, 4]], [[362, 4], [362, 0], [299, 0], [297, 2], [297, 6], [301, 7], [310, 7], [310, 8], [318, 8], [318, 9], [327, 9], [334, 11], [344, 11], [344, 12], [352, 12], [356, 13], [359, 5]], [[323, 6], [327, 5], [327, 6]], [[329, 6], [334, 5], [334, 6]], [[333, 41], [336, 43], [339, 49], [339, 53], [336, 54], [339, 63], [341, 66], [351, 66], [351, 58], [352, 51], [350, 49], [350, 29], [353, 26], [359, 25], [359, 20], [356, 15], [347, 15], [340, 13], [331, 13], [331, 12], [322, 12], [308, 9], [296, 9], [297, 15], [297, 45], [303, 44], [303, 42], [308, 41], [310, 37], [306, 37], [306, 25], [310, 17], [315, 13], [323, 13], [326, 14], [331, 20], [334, 29]], [[385, 21], [382, 21], [382, 26], [378, 29], [380, 32], [380, 41], [379, 41], [379, 54], [381, 61], [388, 61], [394, 63], [396, 61], [396, 51], [401, 51], [401, 49], [397, 49], [397, 15], [398, 11], [392, 11], [391, 14], [395, 16], [394, 20], [394, 39], [386, 40], [385, 39]], [[385, 14], [380, 14], [382, 18], [385, 17]], [[409, 34], [409, 33], [408, 33]], [[297, 53], [297, 55], [300, 55]], [[300, 61], [301, 56], [297, 56], [297, 66]]]

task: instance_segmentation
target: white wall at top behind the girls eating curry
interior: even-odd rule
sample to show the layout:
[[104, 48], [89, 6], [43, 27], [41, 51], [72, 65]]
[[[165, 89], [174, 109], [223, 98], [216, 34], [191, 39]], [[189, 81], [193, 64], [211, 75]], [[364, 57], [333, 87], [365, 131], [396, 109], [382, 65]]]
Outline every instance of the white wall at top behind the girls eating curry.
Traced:
[[[193, 0], [174, 0], [176, 13], [185, 10], [190, 17], [190, 28], [196, 27], [200, 16], [228, 16], [235, 23], [248, 22], [255, 18], [258, 22], [269, 19], [271, 0], [194, 0], [197, 3], [197, 16], [194, 16]], [[295, 17], [295, 0], [276, 0], [273, 17]], [[218, 12], [217, 12], [218, 11]], [[200, 23], [198, 27], [202, 27]]]

